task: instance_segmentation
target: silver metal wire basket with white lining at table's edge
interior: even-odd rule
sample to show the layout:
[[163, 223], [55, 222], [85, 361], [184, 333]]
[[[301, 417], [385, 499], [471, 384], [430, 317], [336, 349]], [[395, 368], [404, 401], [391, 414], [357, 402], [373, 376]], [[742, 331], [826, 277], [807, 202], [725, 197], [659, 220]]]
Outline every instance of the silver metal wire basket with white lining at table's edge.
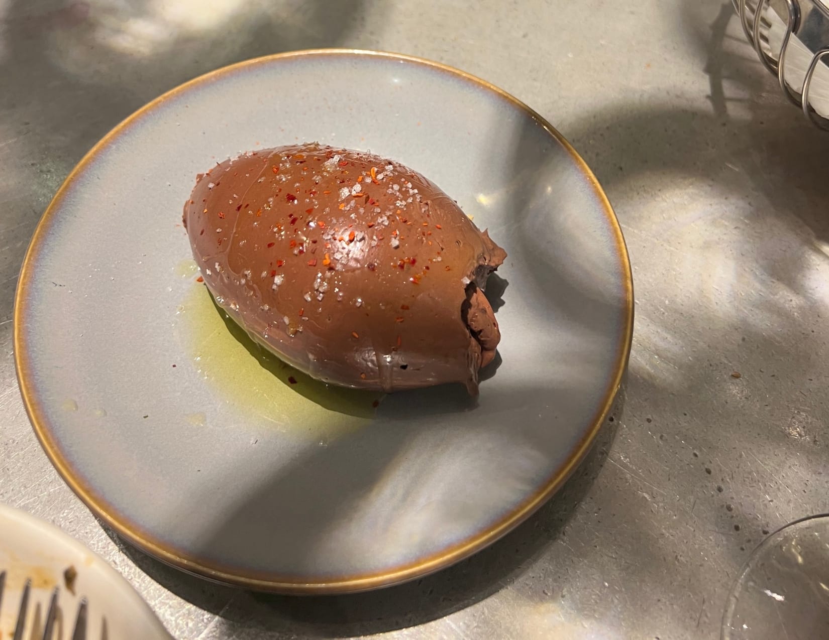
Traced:
[[745, 35], [780, 88], [829, 130], [829, 7], [824, 0], [732, 0]]

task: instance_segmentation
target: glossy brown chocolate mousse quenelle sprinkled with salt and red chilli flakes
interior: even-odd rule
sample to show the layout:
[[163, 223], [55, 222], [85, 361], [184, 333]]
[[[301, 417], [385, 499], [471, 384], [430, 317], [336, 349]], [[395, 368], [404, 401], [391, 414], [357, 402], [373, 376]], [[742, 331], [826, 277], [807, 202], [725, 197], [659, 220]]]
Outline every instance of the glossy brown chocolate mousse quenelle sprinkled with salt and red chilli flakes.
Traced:
[[294, 367], [478, 392], [501, 338], [482, 289], [507, 254], [424, 176], [318, 144], [248, 152], [196, 176], [184, 224], [216, 302]]

